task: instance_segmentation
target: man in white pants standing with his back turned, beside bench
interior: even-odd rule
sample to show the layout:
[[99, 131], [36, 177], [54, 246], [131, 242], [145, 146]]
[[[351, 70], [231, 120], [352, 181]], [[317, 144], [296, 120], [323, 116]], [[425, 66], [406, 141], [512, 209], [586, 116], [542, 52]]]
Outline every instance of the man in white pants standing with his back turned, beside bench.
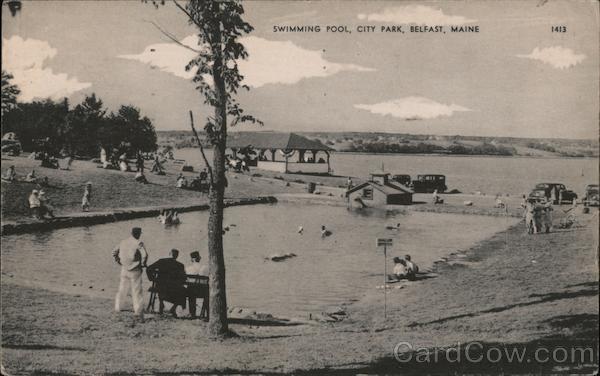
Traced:
[[127, 290], [131, 286], [133, 311], [136, 316], [144, 317], [144, 296], [142, 292], [142, 268], [146, 267], [148, 252], [140, 240], [142, 229], [131, 229], [131, 237], [121, 241], [113, 250], [115, 261], [121, 265], [121, 281], [115, 298], [115, 311], [121, 311]]

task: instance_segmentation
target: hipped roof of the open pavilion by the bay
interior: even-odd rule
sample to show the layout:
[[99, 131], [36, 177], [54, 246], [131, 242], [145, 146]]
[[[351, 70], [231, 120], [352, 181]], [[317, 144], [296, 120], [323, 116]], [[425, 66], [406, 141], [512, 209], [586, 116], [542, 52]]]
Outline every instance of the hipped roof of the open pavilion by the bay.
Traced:
[[333, 149], [318, 140], [311, 140], [296, 133], [284, 132], [232, 132], [227, 135], [228, 148], [323, 150]]

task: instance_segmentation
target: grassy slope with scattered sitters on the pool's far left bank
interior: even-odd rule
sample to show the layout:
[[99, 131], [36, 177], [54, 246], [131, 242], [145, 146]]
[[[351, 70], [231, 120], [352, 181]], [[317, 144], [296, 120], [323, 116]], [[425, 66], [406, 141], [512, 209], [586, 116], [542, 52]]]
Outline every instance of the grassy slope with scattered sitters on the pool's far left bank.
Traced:
[[[147, 163], [149, 164], [149, 163]], [[22, 157], [2, 157], [4, 170], [14, 165], [20, 181], [2, 182], [2, 219], [19, 220], [29, 217], [28, 197], [37, 184], [22, 179], [32, 169], [38, 177], [48, 176], [50, 187], [43, 188], [55, 214], [59, 216], [81, 212], [81, 198], [84, 185], [92, 182], [90, 211], [110, 211], [134, 207], [159, 205], [197, 205], [208, 202], [206, 194], [178, 189], [175, 181], [179, 166], [166, 165], [166, 175], [146, 175], [150, 184], [134, 181], [133, 172], [120, 172], [98, 168], [88, 161], [74, 161], [71, 170], [55, 170], [40, 167], [40, 161]], [[4, 172], [4, 171], [3, 171]], [[191, 178], [196, 173], [185, 172]], [[278, 180], [255, 179], [250, 175], [228, 173], [229, 186], [225, 191], [227, 198], [266, 196], [276, 193], [300, 193], [305, 189], [298, 185], [286, 186]]]

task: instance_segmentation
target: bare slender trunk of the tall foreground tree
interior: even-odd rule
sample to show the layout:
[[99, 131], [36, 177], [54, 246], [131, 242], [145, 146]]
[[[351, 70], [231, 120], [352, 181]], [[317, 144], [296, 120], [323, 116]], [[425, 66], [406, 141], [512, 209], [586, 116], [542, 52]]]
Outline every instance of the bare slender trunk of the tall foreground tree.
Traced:
[[[214, 29], [214, 38], [221, 40], [220, 28]], [[220, 43], [218, 44], [220, 45]], [[225, 148], [227, 142], [227, 95], [222, 76], [223, 60], [217, 50], [213, 64], [213, 80], [217, 106], [215, 106], [215, 126], [218, 133], [213, 155], [213, 184], [210, 191], [210, 217], [208, 219], [208, 257], [210, 272], [210, 320], [209, 332], [214, 336], [224, 336], [227, 326], [227, 291], [225, 287], [225, 259], [223, 255], [223, 199], [225, 196]]]

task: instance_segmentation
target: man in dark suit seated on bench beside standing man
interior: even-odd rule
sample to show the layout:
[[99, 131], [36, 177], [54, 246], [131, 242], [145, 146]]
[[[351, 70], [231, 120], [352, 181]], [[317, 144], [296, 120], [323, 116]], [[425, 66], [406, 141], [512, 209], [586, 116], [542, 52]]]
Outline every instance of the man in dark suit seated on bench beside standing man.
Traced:
[[177, 317], [177, 306], [185, 308], [186, 289], [184, 283], [186, 280], [185, 268], [182, 263], [177, 261], [179, 250], [172, 249], [169, 253], [171, 257], [162, 258], [150, 265], [146, 269], [149, 280], [156, 276], [159, 299], [159, 313], [164, 310], [164, 301], [173, 306], [169, 310], [173, 317]]

